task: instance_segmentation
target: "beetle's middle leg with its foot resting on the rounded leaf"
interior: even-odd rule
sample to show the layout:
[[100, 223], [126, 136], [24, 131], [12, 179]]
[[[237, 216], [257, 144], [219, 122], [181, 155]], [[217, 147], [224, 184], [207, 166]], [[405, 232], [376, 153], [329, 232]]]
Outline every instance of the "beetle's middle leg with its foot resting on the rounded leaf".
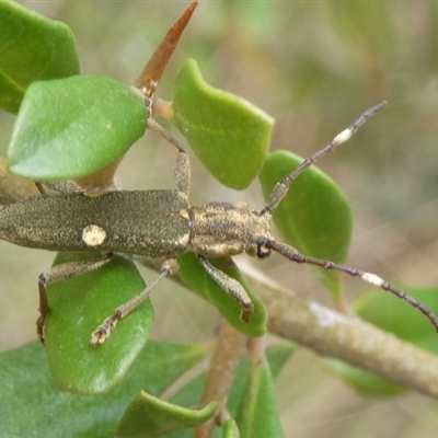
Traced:
[[115, 312], [108, 316], [91, 335], [90, 346], [95, 348], [99, 344], [103, 344], [111, 335], [117, 322], [131, 312], [138, 304], [145, 301], [150, 292], [166, 277], [175, 274], [180, 268], [180, 262], [176, 258], [166, 260], [161, 266], [161, 273], [155, 280], [153, 280], [146, 289], [139, 295], [130, 299], [125, 304], [118, 307]]

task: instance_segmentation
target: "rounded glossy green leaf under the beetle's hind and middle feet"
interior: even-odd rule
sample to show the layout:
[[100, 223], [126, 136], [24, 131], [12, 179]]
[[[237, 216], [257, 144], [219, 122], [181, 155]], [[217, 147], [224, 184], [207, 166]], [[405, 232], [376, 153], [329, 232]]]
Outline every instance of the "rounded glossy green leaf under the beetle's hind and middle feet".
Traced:
[[[59, 253], [56, 264], [99, 258], [100, 253]], [[118, 322], [95, 349], [91, 334], [115, 309], [138, 295], [145, 281], [131, 261], [113, 256], [99, 269], [47, 288], [50, 312], [46, 349], [56, 384], [62, 391], [99, 394], [117, 385], [148, 339], [153, 322], [149, 300]]]

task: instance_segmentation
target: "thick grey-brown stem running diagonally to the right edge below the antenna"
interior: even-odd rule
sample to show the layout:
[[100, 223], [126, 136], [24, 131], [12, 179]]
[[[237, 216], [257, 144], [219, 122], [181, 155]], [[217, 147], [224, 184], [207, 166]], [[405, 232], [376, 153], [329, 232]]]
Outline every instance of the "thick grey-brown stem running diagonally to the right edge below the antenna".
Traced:
[[266, 306], [269, 332], [438, 399], [438, 356], [357, 318], [258, 280], [249, 283]]

